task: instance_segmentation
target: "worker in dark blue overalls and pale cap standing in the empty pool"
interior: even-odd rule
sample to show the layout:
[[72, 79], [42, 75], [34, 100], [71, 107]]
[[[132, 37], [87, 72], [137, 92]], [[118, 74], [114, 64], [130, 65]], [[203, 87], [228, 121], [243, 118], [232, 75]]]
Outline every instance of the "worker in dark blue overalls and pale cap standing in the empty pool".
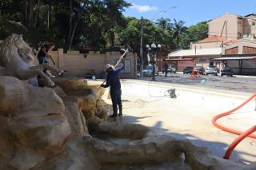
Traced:
[[[113, 115], [110, 117], [122, 116], [122, 101], [121, 101], [121, 83], [119, 73], [125, 68], [123, 57], [114, 68], [113, 65], [106, 65], [106, 85], [101, 85], [104, 88], [110, 86], [110, 96], [112, 100]], [[118, 113], [119, 109], [119, 113]], [[117, 114], [118, 113], [118, 114]]]

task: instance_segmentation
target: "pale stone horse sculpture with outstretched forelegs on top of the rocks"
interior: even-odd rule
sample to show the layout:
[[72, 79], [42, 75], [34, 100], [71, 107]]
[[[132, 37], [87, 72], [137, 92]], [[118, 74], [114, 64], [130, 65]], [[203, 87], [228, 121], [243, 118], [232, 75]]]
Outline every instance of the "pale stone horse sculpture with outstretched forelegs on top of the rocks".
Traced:
[[53, 87], [55, 84], [50, 80], [43, 69], [48, 69], [55, 75], [63, 71], [55, 69], [48, 64], [32, 65], [34, 53], [29, 45], [24, 42], [22, 35], [11, 34], [0, 46], [0, 66], [5, 68], [6, 76], [18, 77], [21, 80], [28, 80], [31, 77], [40, 75], [46, 85]]

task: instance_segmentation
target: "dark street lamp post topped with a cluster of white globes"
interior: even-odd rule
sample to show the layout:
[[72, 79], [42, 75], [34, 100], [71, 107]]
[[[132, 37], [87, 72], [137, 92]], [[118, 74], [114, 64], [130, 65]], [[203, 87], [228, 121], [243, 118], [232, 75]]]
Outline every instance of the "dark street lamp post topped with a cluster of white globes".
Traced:
[[161, 48], [161, 45], [155, 45], [152, 43], [151, 45], [146, 45], [146, 49], [150, 55], [150, 63], [153, 65], [153, 70], [152, 70], [152, 81], [155, 81], [155, 61], [156, 61], [156, 54], [158, 52], [158, 49]]

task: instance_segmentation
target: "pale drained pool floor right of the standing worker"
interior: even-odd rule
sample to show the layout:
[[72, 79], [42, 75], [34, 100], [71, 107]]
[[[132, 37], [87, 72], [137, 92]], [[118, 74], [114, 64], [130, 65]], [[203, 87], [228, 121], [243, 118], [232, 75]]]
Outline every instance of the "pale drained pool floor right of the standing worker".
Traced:
[[[176, 89], [172, 99], [167, 89]], [[211, 120], [234, 109], [252, 93], [211, 89], [198, 85], [178, 85], [138, 80], [122, 81], [124, 117], [122, 121], [149, 126], [155, 134], [168, 134], [193, 144], [206, 146], [216, 156], [223, 156], [235, 135], [215, 128]], [[245, 130], [255, 125], [255, 101], [220, 121], [228, 127]], [[256, 140], [247, 138], [235, 148], [233, 160], [255, 161]]]

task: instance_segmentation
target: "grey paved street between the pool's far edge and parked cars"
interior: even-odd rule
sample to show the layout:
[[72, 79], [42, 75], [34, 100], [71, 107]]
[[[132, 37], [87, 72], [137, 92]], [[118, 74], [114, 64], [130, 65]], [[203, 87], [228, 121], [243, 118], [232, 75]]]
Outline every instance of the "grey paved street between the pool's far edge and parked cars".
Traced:
[[[149, 81], [151, 77], [143, 77], [140, 79]], [[198, 87], [234, 90], [245, 93], [256, 93], [256, 77], [219, 77], [202, 75], [200, 78], [195, 78], [190, 77], [189, 74], [184, 75], [182, 73], [169, 73], [168, 77], [164, 77], [163, 73], [159, 73], [159, 76], [156, 77], [156, 80], [178, 85], [196, 85]]]

